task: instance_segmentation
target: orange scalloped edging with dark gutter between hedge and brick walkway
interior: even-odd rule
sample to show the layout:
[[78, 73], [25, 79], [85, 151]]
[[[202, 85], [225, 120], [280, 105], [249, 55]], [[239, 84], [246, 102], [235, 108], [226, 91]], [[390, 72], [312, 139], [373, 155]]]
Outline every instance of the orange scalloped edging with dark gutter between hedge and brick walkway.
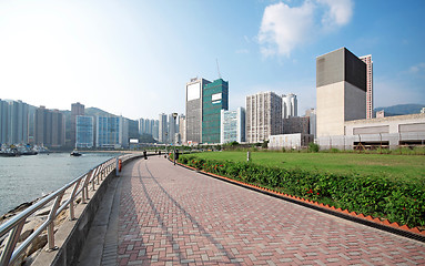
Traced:
[[[172, 161], [170, 161], [170, 162], [172, 162]], [[260, 193], [273, 196], [273, 197], [277, 197], [277, 198], [291, 202], [291, 203], [295, 203], [295, 204], [298, 204], [298, 205], [302, 205], [302, 206], [305, 206], [308, 208], [313, 208], [313, 209], [316, 209], [316, 211], [320, 211], [320, 212], [323, 212], [326, 214], [331, 214], [331, 215], [334, 215], [334, 216], [337, 216], [341, 218], [345, 218], [345, 219], [348, 219], [348, 221], [352, 221], [355, 223], [360, 223], [360, 224], [363, 224], [366, 226], [371, 226], [371, 227], [374, 227], [377, 229], [382, 229], [385, 232], [389, 232], [389, 233], [393, 233], [396, 235], [401, 235], [401, 236], [404, 236], [404, 237], [407, 237], [411, 239], [415, 239], [415, 241], [419, 241], [419, 242], [425, 243], [425, 231], [421, 232], [417, 227], [409, 228], [407, 225], [399, 225], [398, 223], [391, 223], [388, 219], [382, 221], [382, 219], [380, 219], [377, 217], [373, 217], [371, 215], [365, 216], [364, 214], [357, 214], [356, 212], [350, 212], [348, 209], [335, 208], [334, 206], [330, 206], [327, 204], [324, 205], [323, 203], [313, 202], [310, 200], [305, 200], [303, 197], [292, 196], [292, 195], [289, 195], [285, 193], [270, 190], [270, 188], [261, 187], [257, 185], [252, 185], [252, 184], [244, 183], [241, 181], [235, 181], [235, 180], [232, 180], [232, 178], [229, 178], [225, 176], [221, 176], [221, 175], [212, 174], [212, 173], [209, 173], [205, 171], [201, 171], [201, 170], [198, 170], [198, 168], [194, 168], [194, 167], [191, 167], [191, 166], [178, 163], [178, 162], [175, 162], [175, 164], [178, 164], [179, 166], [199, 172], [203, 175], [211, 176], [213, 178], [229, 182], [229, 183], [232, 183], [232, 184], [235, 184], [235, 185], [239, 185], [239, 186], [252, 190], [252, 191], [256, 191], [256, 192], [260, 192]]]

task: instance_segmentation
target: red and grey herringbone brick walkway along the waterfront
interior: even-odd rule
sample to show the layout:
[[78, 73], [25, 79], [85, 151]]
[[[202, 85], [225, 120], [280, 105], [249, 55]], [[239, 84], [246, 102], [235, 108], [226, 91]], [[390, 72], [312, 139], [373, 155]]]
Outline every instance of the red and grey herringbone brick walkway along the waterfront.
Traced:
[[120, 178], [118, 234], [115, 243], [107, 239], [104, 264], [110, 257], [119, 265], [425, 265], [423, 243], [221, 182], [164, 157], [138, 160]]

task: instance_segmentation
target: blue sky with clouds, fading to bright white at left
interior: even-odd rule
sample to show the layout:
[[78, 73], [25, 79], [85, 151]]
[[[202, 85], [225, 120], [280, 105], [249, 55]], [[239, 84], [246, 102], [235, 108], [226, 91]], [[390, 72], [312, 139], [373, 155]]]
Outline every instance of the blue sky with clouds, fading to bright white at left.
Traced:
[[315, 58], [374, 61], [374, 105], [425, 105], [425, 1], [1, 1], [0, 98], [130, 119], [184, 113], [194, 76], [315, 106]]

